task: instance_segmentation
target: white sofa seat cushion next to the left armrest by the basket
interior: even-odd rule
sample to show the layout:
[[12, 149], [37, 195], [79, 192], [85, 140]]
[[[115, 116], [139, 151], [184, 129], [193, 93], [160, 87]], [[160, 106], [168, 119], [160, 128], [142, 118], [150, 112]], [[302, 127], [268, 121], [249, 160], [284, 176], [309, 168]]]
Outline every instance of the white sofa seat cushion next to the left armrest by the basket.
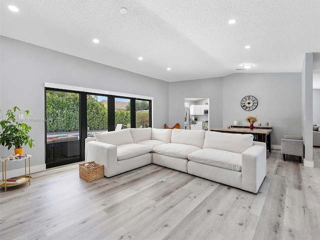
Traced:
[[151, 147], [141, 145], [141, 144], [135, 144], [135, 143], [129, 143], [129, 144], [123, 144], [116, 147], [116, 156], [117, 160], [124, 160], [128, 158], [132, 158], [135, 156], [140, 156], [145, 153], [148, 153], [152, 150]]

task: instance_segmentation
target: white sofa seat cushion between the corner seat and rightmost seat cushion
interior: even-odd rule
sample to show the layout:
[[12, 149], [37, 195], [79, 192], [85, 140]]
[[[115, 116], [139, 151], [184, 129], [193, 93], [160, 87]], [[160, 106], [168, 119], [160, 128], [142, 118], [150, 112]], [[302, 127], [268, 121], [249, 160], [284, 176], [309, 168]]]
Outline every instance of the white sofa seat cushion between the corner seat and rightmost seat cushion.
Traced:
[[198, 146], [181, 144], [181, 143], [165, 143], [153, 148], [153, 151], [165, 156], [172, 156], [177, 158], [187, 158], [188, 155], [201, 149]]

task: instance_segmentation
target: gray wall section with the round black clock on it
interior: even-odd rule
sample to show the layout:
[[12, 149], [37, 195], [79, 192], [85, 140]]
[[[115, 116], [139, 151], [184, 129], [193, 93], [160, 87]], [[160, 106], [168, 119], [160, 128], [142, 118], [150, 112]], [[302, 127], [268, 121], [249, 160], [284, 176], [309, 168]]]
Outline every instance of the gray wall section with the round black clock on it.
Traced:
[[[300, 73], [235, 73], [223, 77], [223, 126], [248, 125], [245, 117], [258, 117], [258, 123], [272, 126], [271, 144], [281, 145], [284, 134], [301, 135]], [[254, 110], [240, 106], [242, 97], [253, 95], [258, 100]]]

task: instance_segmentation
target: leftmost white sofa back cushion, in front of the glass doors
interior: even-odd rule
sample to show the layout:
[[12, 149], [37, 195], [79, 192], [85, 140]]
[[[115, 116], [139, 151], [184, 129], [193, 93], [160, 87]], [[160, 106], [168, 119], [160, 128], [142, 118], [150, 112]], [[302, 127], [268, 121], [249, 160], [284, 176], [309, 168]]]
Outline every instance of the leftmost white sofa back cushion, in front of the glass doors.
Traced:
[[103, 133], [96, 133], [94, 135], [96, 141], [109, 143], [112, 145], [123, 145], [133, 143], [133, 139], [130, 133], [130, 129], [121, 129], [118, 131], [108, 131]]

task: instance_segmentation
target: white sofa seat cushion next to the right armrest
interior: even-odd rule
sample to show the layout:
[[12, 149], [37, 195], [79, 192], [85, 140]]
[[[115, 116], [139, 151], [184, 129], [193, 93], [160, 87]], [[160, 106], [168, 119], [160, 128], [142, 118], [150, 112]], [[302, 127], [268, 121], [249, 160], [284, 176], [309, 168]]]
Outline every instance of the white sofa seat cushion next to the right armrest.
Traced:
[[241, 171], [241, 154], [236, 152], [204, 148], [190, 153], [188, 159], [211, 166]]

